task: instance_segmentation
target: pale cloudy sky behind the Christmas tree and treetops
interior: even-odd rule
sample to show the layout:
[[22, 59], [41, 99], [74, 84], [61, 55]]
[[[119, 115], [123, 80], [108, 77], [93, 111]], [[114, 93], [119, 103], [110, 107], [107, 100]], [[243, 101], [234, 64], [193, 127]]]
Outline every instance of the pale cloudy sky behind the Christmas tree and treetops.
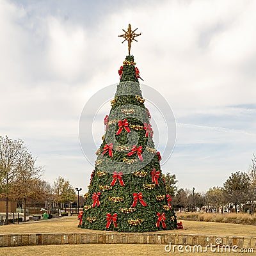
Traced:
[[[117, 35], [131, 23], [142, 33], [131, 54], [143, 83], [165, 97], [177, 123], [163, 172], [180, 188], [221, 186], [248, 170], [256, 151], [255, 12], [246, 0], [0, 0], [0, 135], [24, 140], [46, 180], [61, 175], [84, 193], [93, 166], [79, 118], [95, 93], [118, 83], [127, 44]], [[100, 109], [97, 147], [110, 104]]]

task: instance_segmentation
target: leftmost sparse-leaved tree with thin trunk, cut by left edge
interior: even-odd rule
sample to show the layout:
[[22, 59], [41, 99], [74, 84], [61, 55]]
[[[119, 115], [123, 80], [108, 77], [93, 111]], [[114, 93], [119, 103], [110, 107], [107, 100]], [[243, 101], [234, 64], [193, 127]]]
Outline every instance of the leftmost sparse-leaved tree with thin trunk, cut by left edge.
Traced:
[[22, 156], [26, 151], [22, 140], [12, 140], [8, 136], [0, 137], [0, 184], [1, 196], [6, 199], [6, 224], [9, 214], [8, 202], [17, 180]]

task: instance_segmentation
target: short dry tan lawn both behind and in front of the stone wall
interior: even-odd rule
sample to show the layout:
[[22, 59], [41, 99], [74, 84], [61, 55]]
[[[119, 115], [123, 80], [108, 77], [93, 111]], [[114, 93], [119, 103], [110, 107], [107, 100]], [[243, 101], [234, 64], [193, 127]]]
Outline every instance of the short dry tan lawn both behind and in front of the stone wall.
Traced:
[[[47, 232], [95, 232], [95, 230], [84, 230], [77, 228], [77, 217], [65, 217], [47, 221], [34, 221], [25, 224], [0, 226], [0, 234], [28, 234]], [[237, 225], [216, 222], [183, 221], [183, 230], [168, 230], [161, 232], [178, 234], [218, 234], [233, 236], [256, 236], [256, 227], [250, 225]], [[102, 231], [106, 232], [106, 231]], [[216, 253], [207, 252], [204, 255], [214, 256]], [[252, 253], [221, 253], [221, 255], [253, 255]], [[35, 256], [35, 255], [89, 255], [89, 256], [127, 256], [127, 255], [193, 255], [202, 253], [167, 253], [164, 245], [154, 244], [65, 244], [65, 245], [44, 245], [44, 246], [19, 246], [0, 248], [2, 256]]]

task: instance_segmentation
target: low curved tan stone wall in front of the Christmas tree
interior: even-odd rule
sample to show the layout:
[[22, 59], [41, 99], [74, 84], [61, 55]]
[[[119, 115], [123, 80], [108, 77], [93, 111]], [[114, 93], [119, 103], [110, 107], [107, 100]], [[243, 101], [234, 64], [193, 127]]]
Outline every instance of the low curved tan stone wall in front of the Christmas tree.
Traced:
[[[217, 243], [221, 241], [221, 243]], [[36, 244], [180, 244], [200, 245], [203, 248], [215, 244], [216, 246], [237, 246], [238, 248], [253, 248], [256, 237], [240, 236], [207, 236], [188, 234], [163, 233], [55, 233], [55, 234], [0, 234], [1, 246], [28, 246]]]

